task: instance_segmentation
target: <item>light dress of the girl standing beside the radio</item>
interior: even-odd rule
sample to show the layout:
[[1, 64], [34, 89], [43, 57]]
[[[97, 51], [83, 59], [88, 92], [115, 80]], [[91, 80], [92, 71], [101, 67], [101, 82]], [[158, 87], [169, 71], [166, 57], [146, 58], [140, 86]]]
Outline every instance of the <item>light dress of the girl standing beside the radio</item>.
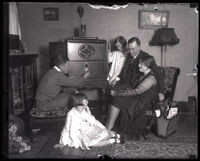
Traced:
[[107, 80], [109, 84], [120, 74], [126, 57], [121, 51], [108, 53], [108, 63], [112, 63]]

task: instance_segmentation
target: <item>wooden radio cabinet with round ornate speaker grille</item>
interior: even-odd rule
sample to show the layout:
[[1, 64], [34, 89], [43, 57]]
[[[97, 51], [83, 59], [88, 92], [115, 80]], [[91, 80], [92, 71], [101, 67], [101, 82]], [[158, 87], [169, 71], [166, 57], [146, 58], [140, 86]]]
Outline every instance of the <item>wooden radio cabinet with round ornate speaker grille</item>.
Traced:
[[49, 42], [49, 50], [50, 60], [58, 54], [64, 54], [69, 59], [69, 75], [80, 76], [85, 71], [90, 72], [90, 77], [81, 86], [107, 88], [106, 40], [67, 39], [65, 42]]

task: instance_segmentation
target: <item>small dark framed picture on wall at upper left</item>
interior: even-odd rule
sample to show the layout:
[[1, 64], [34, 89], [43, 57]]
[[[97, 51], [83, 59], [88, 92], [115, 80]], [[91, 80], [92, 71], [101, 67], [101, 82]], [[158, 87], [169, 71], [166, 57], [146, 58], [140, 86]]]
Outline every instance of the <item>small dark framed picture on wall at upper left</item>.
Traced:
[[44, 21], [58, 21], [59, 8], [43, 8]]

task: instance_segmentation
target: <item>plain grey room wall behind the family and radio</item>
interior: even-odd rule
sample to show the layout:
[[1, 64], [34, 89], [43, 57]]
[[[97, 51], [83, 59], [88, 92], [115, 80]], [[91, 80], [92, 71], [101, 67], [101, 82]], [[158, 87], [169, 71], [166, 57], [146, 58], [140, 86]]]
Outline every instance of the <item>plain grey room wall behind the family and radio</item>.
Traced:
[[[78, 6], [77, 3], [19, 3], [22, 39], [30, 53], [39, 53], [38, 81], [49, 67], [48, 42], [62, 41], [71, 37], [74, 28], [78, 27], [80, 22]], [[145, 8], [136, 4], [129, 4], [128, 7], [119, 10], [97, 10], [88, 4], [82, 6], [84, 7], [82, 22], [87, 25], [88, 37], [111, 40], [123, 35], [128, 40], [137, 36], [142, 42], [142, 49], [153, 55], [160, 65], [160, 48], [149, 46], [154, 30], [138, 28], [138, 11]], [[44, 21], [43, 8], [49, 7], [59, 8], [59, 21]], [[153, 10], [150, 6], [146, 9]], [[198, 60], [197, 13], [189, 5], [160, 4], [158, 10], [169, 10], [168, 27], [175, 28], [180, 39], [178, 45], [167, 47], [166, 66], [177, 66], [181, 69], [174, 98], [177, 101], [187, 101], [188, 95], [197, 96], [197, 80], [192, 76], [185, 76], [192, 71]], [[194, 88], [188, 93], [192, 87]]]

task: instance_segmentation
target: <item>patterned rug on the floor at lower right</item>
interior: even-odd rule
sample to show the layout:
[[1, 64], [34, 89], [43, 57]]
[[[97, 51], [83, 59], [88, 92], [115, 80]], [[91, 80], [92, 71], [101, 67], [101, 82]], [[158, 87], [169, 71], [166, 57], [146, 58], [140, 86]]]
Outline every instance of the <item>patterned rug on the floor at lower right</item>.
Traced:
[[173, 134], [168, 138], [149, 134], [145, 141], [132, 141], [126, 136], [125, 144], [115, 144], [111, 157], [114, 158], [144, 158], [144, 159], [188, 159], [197, 158], [197, 137]]

